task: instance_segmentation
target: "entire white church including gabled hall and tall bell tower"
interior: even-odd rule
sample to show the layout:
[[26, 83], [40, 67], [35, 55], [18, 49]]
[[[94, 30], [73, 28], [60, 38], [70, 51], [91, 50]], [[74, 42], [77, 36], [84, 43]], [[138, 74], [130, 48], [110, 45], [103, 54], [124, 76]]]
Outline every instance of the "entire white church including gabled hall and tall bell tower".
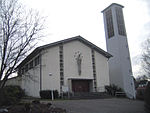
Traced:
[[108, 52], [81, 36], [38, 47], [19, 64], [17, 84], [33, 97], [41, 90], [105, 92], [115, 84], [135, 98], [122, 8], [113, 3], [102, 11]]

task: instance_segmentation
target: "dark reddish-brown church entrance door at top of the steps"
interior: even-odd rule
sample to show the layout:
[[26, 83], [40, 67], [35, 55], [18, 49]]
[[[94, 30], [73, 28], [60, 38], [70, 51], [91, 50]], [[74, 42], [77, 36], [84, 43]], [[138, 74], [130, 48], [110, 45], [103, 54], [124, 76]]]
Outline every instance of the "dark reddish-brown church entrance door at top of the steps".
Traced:
[[73, 92], [90, 92], [89, 80], [72, 80]]

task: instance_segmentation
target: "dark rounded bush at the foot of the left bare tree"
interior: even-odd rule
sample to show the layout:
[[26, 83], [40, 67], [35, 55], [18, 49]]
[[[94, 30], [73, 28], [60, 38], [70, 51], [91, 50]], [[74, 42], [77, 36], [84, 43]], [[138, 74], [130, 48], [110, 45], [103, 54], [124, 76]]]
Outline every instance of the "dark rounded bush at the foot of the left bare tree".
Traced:
[[25, 96], [20, 86], [6, 86], [0, 91], [0, 105], [12, 105]]

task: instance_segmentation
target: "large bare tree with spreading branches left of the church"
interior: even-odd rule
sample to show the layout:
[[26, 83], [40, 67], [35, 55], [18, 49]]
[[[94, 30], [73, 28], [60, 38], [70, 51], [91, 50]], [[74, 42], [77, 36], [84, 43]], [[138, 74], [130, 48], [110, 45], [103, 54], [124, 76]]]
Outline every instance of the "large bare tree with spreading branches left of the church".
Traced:
[[17, 0], [0, 0], [0, 89], [15, 73], [43, 30], [44, 19]]

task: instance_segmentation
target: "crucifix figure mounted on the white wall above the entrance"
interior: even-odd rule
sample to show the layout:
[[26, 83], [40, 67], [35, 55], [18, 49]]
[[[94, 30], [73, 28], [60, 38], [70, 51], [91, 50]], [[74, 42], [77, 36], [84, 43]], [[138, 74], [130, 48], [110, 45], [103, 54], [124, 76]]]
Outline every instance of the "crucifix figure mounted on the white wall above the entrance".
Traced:
[[83, 58], [82, 53], [77, 51], [77, 52], [75, 52], [74, 57], [75, 57], [75, 59], [77, 61], [78, 74], [81, 75], [81, 71], [82, 71], [81, 64], [82, 64], [82, 58]]

